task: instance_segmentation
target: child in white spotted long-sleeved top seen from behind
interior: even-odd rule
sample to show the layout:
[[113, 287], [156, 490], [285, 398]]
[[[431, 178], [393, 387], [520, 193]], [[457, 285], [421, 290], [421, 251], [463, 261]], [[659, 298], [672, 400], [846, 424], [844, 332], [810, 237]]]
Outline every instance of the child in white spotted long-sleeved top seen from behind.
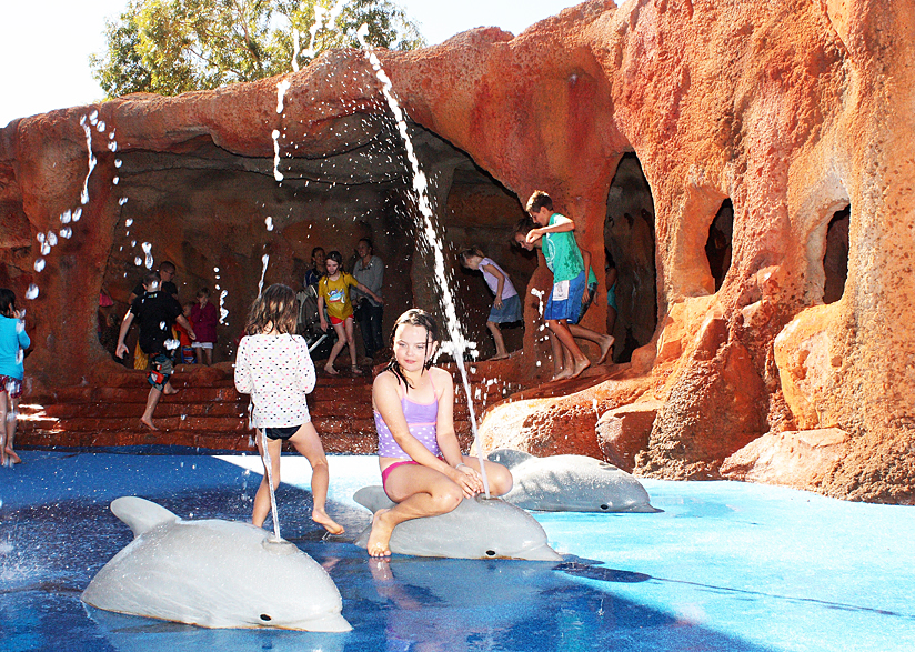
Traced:
[[311, 464], [312, 521], [331, 534], [342, 534], [343, 528], [324, 511], [330, 473], [305, 402], [305, 395], [314, 389], [315, 374], [308, 343], [294, 334], [298, 313], [295, 292], [286, 285], [271, 285], [251, 305], [248, 334], [239, 342], [235, 389], [251, 394], [251, 422], [264, 460], [251, 522], [260, 528], [270, 513], [271, 478], [275, 489], [280, 484], [280, 453], [283, 441], [289, 440]]

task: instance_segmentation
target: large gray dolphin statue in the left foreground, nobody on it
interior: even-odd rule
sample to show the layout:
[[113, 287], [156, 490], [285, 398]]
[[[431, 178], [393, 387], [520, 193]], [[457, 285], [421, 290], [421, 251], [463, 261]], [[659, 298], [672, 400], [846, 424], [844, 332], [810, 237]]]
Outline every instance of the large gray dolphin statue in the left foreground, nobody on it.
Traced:
[[111, 511], [134, 539], [86, 588], [87, 604], [204, 628], [352, 629], [333, 580], [293, 543], [248, 523], [184, 521], [141, 498]]

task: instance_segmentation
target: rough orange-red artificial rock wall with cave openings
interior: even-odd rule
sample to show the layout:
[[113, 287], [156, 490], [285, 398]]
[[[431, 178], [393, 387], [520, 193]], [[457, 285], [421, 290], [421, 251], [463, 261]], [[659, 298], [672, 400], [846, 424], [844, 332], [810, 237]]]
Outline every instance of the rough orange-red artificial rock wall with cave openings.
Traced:
[[[641, 0], [617, 8], [592, 0], [517, 37], [479, 29], [379, 57], [411, 129], [426, 134], [420, 159], [449, 229], [462, 227], [448, 224], [443, 208], [461, 170], [482, 169], [521, 202], [547, 190], [575, 221], [603, 283], [604, 238], [613, 233], [605, 229], [607, 202], [624, 156], [634, 152], [651, 190], [651, 342], [632, 353], [624, 375], [584, 393], [494, 408], [483, 424], [490, 444], [601, 455], [594, 427], [602, 412], [657, 401], [646, 441], [616, 440], [642, 442], [616, 451], [636, 473], [720, 478], [724, 460], [751, 442], [746, 455], [777, 461], [787, 457], [766, 458], [765, 445], [784, 445], [778, 433], [837, 429], [845, 434], [831, 439], [828, 455], [785, 464], [785, 483], [855, 500], [915, 500], [915, 3]], [[109, 364], [94, 341], [94, 301], [103, 283], [113, 284], [112, 269], [132, 260], [115, 253], [124, 205], [191, 215], [167, 228], [171, 244], [163, 248], [179, 272], [202, 281], [209, 268], [191, 270], [203, 260], [250, 288], [264, 247], [276, 247], [263, 232], [265, 217], [281, 231], [309, 220], [325, 229], [321, 202], [295, 204], [290, 179], [345, 187], [355, 170], [362, 185], [353, 197], [326, 203], [324, 195], [336, 208], [352, 209], [359, 195], [360, 205], [383, 213], [391, 197], [410, 195], [409, 188], [371, 191], [371, 183], [402, 174], [400, 159], [382, 164], [392, 150], [361, 162], [364, 148], [392, 131], [363, 53], [329, 53], [285, 79], [282, 112], [276, 79], [98, 107], [108, 130], [93, 126], [90, 200], [73, 237], [54, 245], [40, 273], [38, 235], [59, 231], [61, 213], [81, 205], [88, 163], [80, 118], [93, 109], [18, 120], [0, 132], [0, 284], [41, 288], [29, 304], [38, 345], [27, 368], [36, 380], [74, 382]], [[108, 148], [112, 129], [118, 152]], [[279, 185], [273, 130], [289, 177]], [[112, 183], [119, 173], [124, 185]], [[179, 190], [169, 193], [171, 203], [153, 201], [155, 183]], [[245, 192], [257, 194], [257, 205]], [[119, 204], [125, 195], [131, 200]], [[733, 231], [712, 264], [710, 228], [725, 200]], [[827, 232], [846, 208], [847, 279], [844, 290], [831, 290], [841, 298], [824, 304]], [[359, 214], [351, 210], [334, 228]], [[505, 231], [516, 217], [487, 220]], [[406, 242], [412, 268], [401, 285], [414, 301], [431, 301], [429, 253], [413, 245], [409, 229], [366, 223], [389, 234], [389, 258]], [[550, 280], [541, 260], [527, 290], [546, 289]], [[546, 351], [537, 307], [530, 292], [525, 298], [517, 365], [543, 374], [535, 367]], [[600, 303], [585, 325], [603, 324]], [[241, 310], [241, 301], [232, 307]], [[509, 432], [506, 423], [517, 428]], [[775, 467], [742, 475], [752, 468], [744, 457], [728, 477], [778, 482]]]

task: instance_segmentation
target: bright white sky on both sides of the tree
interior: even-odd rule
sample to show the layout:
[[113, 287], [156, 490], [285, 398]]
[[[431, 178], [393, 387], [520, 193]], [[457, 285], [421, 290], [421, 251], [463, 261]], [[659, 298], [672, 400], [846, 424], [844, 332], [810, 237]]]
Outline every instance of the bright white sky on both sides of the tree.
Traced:
[[[581, 0], [395, 0], [430, 43], [467, 29], [496, 26], [515, 34]], [[89, 70], [102, 52], [107, 18], [127, 0], [2, 0], [0, 128], [10, 120], [88, 104], [104, 97]]]

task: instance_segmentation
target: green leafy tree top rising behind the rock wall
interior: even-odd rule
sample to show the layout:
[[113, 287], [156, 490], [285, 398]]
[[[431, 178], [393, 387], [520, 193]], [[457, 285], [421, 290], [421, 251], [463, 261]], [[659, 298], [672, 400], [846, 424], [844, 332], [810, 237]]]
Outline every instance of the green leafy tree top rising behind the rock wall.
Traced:
[[[108, 50], [91, 58], [109, 98], [174, 96], [252, 81], [306, 66], [331, 48], [412, 50], [425, 44], [391, 0], [132, 0], [105, 29]], [[295, 54], [295, 57], [294, 57]]]

